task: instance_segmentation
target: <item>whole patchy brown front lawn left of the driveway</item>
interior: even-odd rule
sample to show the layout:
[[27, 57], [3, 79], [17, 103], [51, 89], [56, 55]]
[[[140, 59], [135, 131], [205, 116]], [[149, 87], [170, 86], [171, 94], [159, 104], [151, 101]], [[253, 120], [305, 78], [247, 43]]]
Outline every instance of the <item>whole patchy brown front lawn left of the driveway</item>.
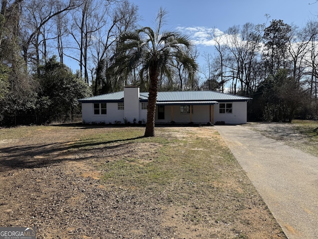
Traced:
[[286, 238], [214, 127], [0, 131], [1, 227], [34, 226], [39, 239]]

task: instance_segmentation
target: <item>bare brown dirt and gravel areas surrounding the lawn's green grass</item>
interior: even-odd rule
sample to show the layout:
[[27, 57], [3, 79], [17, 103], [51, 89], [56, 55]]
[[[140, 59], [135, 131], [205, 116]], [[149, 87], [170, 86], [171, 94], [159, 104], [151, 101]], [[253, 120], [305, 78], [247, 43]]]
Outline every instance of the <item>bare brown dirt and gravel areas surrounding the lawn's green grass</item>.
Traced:
[[[250, 187], [247, 177], [229, 179], [227, 184], [211, 182], [208, 190], [215, 192], [215, 198], [205, 198], [208, 192], [187, 181], [183, 187], [193, 189], [189, 203], [167, 204], [174, 185], [153, 194], [115, 187], [103, 183], [100, 170], [109, 161], [136, 158], [136, 163], [142, 163], [156, 158], [160, 143], [114, 142], [107, 147], [72, 150], [80, 135], [101, 129], [79, 131], [72, 127], [41, 129], [34, 137], [1, 141], [1, 227], [33, 226], [39, 239], [211, 239], [229, 238], [229, 231], [231, 238], [285, 238], [259, 195], [242, 197], [242, 185]], [[211, 144], [220, 140], [213, 127], [176, 127], [159, 134], [171, 137], [171, 132], [179, 139], [191, 135], [189, 140], [204, 138]], [[196, 192], [202, 198], [196, 198]], [[206, 202], [200, 204], [199, 200]], [[227, 211], [231, 218], [223, 218]], [[235, 217], [239, 222], [233, 212], [240, 214]]]

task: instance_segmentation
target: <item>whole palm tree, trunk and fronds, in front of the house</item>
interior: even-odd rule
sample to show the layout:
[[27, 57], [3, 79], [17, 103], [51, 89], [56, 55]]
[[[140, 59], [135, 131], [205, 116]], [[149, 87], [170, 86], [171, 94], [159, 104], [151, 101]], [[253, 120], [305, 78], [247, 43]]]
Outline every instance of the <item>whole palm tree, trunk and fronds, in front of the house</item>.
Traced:
[[[131, 72], [140, 67], [141, 82], [144, 77], [149, 83], [148, 113], [145, 137], [155, 136], [155, 112], [158, 93], [159, 74], [167, 77], [176, 62], [192, 62], [195, 72], [198, 68], [195, 60], [189, 55], [192, 44], [187, 36], [178, 32], [161, 30], [166, 11], [162, 8], [156, 18], [157, 26], [142, 27], [133, 32], [125, 32], [120, 36], [115, 65], [121, 72]], [[119, 66], [120, 65], [120, 66]]]

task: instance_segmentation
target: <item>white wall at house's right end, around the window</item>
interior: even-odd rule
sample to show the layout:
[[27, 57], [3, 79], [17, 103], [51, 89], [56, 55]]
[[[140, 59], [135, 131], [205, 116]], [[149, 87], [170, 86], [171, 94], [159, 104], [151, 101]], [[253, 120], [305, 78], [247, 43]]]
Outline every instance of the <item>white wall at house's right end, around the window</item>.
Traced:
[[241, 124], [247, 122], [247, 102], [232, 103], [232, 113], [220, 114], [220, 103], [214, 105], [214, 123], [224, 121], [229, 124]]

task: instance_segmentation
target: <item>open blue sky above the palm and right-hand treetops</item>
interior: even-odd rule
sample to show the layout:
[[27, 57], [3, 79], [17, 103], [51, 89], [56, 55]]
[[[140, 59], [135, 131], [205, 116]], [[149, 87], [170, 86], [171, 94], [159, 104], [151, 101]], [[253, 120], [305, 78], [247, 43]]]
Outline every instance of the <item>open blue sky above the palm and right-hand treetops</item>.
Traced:
[[[131, 0], [139, 6], [139, 14], [143, 18], [142, 26], [154, 26], [154, 20], [160, 7], [168, 11], [168, 30], [180, 30], [191, 27], [191, 31], [184, 30], [196, 44], [199, 52], [198, 63], [204, 64], [203, 54], [211, 53], [213, 46], [208, 46], [211, 37], [198, 39], [196, 35], [204, 35], [212, 28], [226, 31], [234, 25], [247, 22], [261, 24], [267, 21], [265, 14], [269, 14], [267, 25], [273, 19], [281, 19], [287, 24], [305, 26], [309, 20], [318, 20], [318, 2], [316, 0]], [[316, 2], [316, 3], [315, 3]], [[200, 32], [200, 34], [198, 34]], [[208, 39], [209, 38], [209, 39]]]

